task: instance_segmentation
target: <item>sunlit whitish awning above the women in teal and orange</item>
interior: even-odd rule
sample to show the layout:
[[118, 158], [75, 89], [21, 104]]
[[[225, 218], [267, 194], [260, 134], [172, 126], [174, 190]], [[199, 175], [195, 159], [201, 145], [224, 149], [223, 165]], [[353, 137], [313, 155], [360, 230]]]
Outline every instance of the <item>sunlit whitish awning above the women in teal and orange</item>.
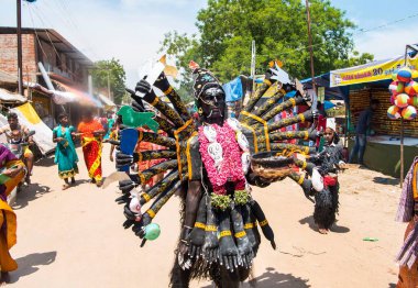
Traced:
[[53, 99], [54, 102], [57, 104], [65, 104], [69, 102], [77, 102], [80, 106], [85, 107], [96, 107], [96, 108], [102, 108], [103, 106], [101, 102], [92, 97], [91, 95], [78, 90], [76, 88], [73, 88], [68, 85], [62, 84], [59, 81], [54, 80], [55, 84], [58, 85], [61, 90], [64, 91], [53, 91]]

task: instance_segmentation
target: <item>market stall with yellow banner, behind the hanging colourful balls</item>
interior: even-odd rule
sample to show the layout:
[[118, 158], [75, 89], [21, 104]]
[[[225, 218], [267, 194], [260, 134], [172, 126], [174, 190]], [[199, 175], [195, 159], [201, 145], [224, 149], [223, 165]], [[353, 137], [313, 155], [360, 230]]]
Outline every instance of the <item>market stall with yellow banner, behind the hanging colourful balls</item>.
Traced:
[[[411, 55], [413, 56], [413, 55]], [[367, 146], [364, 163], [374, 170], [386, 175], [400, 177], [402, 131], [404, 133], [404, 175], [414, 157], [418, 155], [418, 121], [391, 120], [387, 109], [392, 106], [388, 86], [393, 74], [405, 64], [405, 56], [392, 59], [372, 62], [362, 66], [330, 71], [330, 88], [348, 89], [348, 132], [349, 148], [351, 149], [355, 135], [355, 124], [361, 111], [370, 106], [372, 99], [380, 101], [373, 113], [372, 129], [367, 135]], [[407, 66], [418, 67], [417, 56], [407, 57]]]

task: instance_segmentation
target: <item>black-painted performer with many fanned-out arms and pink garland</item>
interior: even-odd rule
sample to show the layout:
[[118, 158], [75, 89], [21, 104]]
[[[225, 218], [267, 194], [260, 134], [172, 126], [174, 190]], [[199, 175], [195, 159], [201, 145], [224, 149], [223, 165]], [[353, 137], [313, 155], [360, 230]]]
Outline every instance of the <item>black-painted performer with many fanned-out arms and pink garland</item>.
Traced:
[[[241, 123], [237, 119], [227, 119], [226, 93], [218, 79], [206, 69], [193, 68], [194, 97], [198, 108], [197, 121], [190, 118], [164, 74], [155, 86], [167, 95], [174, 108], [161, 101], [146, 80], [138, 84], [135, 88], [138, 95], [131, 92], [135, 101], [132, 108], [138, 112], [145, 111], [142, 108], [142, 99], [144, 99], [167, 118], [164, 120], [155, 117], [155, 121], [168, 136], [140, 130], [138, 142], [151, 142], [169, 149], [147, 149], [133, 153], [133, 155], [118, 153], [117, 167], [132, 165], [139, 159], [166, 158], [166, 160], [138, 175], [130, 173], [130, 180], [120, 180], [119, 189], [123, 195], [117, 199], [117, 202], [124, 203], [123, 213], [127, 221], [123, 226], [132, 228], [132, 231], [143, 239], [142, 245], [144, 245], [146, 241], [155, 240], [160, 235], [160, 228], [152, 223], [152, 220], [179, 190], [183, 200], [182, 230], [170, 273], [170, 286], [188, 287], [193, 278], [210, 277], [217, 287], [239, 287], [240, 281], [249, 277], [253, 259], [258, 251], [261, 236], [257, 226], [261, 228], [273, 248], [276, 248], [273, 230], [260, 204], [252, 198], [250, 185], [266, 187], [272, 181], [289, 176], [302, 187], [306, 197], [314, 193], [310, 180], [293, 171], [289, 166], [297, 163], [305, 169], [307, 163], [295, 162], [294, 151], [304, 152], [306, 155], [310, 154], [311, 149], [306, 146], [274, 143], [270, 152], [270, 147], [266, 148], [266, 145], [270, 145], [268, 139], [271, 141], [296, 137], [316, 140], [318, 133], [315, 130], [268, 133], [268, 130], [274, 132], [280, 126], [312, 119], [312, 112], [308, 111], [274, 125], [267, 125], [266, 121], [278, 112], [306, 102], [305, 95], [298, 90], [294, 99], [282, 104], [267, 101], [257, 110], [253, 110], [265, 89], [272, 85], [273, 79], [271, 81], [270, 78], [265, 79], [263, 89], [258, 89], [256, 97], [251, 99], [251, 104], [245, 108], [249, 118], [260, 119], [262, 120], [260, 122], [264, 123], [261, 129], [253, 129], [254, 133], [252, 133], [251, 125], [253, 124], [250, 123], [252, 120], [245, 119], [245, 123]], [[296, 90], [296, 85], [289, 84], [288, 88]], [[280, 91], [273, 100], [283, 96], [284, 92]], [[252, 114], [252, 111], [257, 115]], [[123, 134], [121, 133], [120, 143], [124, 142]], [[248, 141], [249, 135], [257, 139], [251, 142], [257, 144], [251, 146]], [[274, 177], [268, 176], [268, 179], [265, 179], [257, 176], [258, 174], [250, 167], [251, 149], [256, 152], [257, 148], [263, 155], [265, 149], [268, 151], [268, 155], [274, 155], [274, 168], [278, 169]], [[290, 152], [287, 153], [287, 149]], [[143, 189], [152, 177], [168, 170], [170, 171], [163, 180]], [[142, 211], [143, 206], [153, 198], [155, 200], [151, 207]]]

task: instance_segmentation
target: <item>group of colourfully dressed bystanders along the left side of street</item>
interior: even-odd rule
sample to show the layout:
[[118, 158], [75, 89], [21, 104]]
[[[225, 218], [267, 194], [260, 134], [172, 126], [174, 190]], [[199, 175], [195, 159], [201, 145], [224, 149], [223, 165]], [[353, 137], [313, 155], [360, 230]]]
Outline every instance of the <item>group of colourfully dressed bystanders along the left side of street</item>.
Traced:
[[[18, 114], [11, 112], [7, 117], [8, 124], [0, 128], [0, 134], [6, 135], [7, 143], [0, 145], [0, 285], [9, 281], [9, 272], [18, 265], [10, 256], [9, 250], [16, 242], [16, 217], [8, 204], [8, 196], [22, 182], [31, 185], [34, 156], [30, 146], [33, 142], [33, 131], [19, 123]], [[57, 164], [58, 177], [64, 180], [63, 190], [76, 184], [78, 174], [78, 156], [76, 140], [79, 139], [90, 181], [97, 187], [102, 185], [101, 148], [106, 139], [116, 137], [117, 125], [113, 114], [106, 118], [94, 118], [88, 110], [82, 121], [75, 129], [69, 124], [68, 115], [58, 115], [58, 125], [53, 130], [53, 142], [56, 143], [54, 162]], [[13, 146], [23, 145], [21, 155]], [[113, 146], [114, 148], [114, 146]], [[113, 153], [113, 148], [112, 152]], [[113, 156], [110, 156], [113, 159]]]

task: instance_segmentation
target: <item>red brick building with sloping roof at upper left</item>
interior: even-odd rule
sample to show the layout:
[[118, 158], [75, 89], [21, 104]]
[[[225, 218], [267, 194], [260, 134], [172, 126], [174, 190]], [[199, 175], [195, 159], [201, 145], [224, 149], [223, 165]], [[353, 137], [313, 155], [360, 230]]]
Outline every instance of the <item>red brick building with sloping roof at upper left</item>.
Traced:
[[[0, 70], [18, 76], [18, 37], [15, 27], [0, 27]], [[54, 85], [64, 84], [87, 91], [88, 69], [92, 62], [52, 29], [22, 29], [23, 80], [46, 87], [37, 63], [45, 67]], [[18, 86], [15, 86], [18, 89]], [[51, 96], [26, 91], [41, 118], [57, 109]], [[73, 111], [72, 111], [72, 114]], [[79, 115], [73, 115], [77, 122]]]

